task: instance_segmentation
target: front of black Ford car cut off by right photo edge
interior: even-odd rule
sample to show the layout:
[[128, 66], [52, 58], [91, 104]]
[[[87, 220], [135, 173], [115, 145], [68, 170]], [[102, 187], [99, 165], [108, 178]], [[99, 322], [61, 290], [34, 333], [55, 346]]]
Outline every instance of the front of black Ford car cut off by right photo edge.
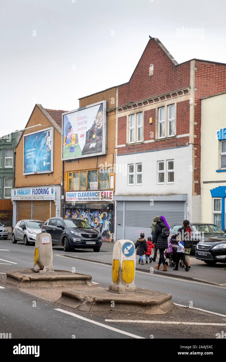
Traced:
[[226, 262], [226, 233], [205, 239], [196, 245], [196, 259], [208, 265]]

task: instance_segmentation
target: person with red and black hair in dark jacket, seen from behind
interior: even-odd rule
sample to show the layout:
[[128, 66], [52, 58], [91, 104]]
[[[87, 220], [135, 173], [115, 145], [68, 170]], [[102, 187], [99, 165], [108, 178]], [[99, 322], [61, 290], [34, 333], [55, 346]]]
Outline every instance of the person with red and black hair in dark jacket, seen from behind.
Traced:
[[[180, 227], [175, 235], [172, 235], [174, 239], [176, 236], [181, 236], [180, 239], [184, 242], [184, 254], [185, 254], [185, 260], [188, 264], [188, 269], [190, 269], [190, 251], [193, 247], [193, 240], [192, 240], [192, 229], [189, 226], [189, 220], [184, 220], [182, 227]], [[182, 262], [182, 268], [184, 268], [184, 265], [186, 265], [184, 262]]]

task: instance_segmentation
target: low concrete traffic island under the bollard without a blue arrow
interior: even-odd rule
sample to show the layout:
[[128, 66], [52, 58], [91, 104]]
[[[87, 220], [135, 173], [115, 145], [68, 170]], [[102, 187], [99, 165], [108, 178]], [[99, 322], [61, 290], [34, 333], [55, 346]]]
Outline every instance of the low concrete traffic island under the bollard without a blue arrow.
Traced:
[[19, 287], [65, 287], [91, 286], [91, 275], [72, 273], [67, 270], [55, 270], [52, 273], [36, 273], [32, 269], [8, 271], [7, 282]]

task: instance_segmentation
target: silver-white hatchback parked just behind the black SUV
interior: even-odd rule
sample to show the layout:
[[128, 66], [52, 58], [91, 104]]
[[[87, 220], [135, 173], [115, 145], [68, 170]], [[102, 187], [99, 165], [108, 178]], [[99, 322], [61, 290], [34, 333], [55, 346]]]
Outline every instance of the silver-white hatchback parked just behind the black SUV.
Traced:
[[44, 221], [40, 220], [20, 220], [16, 223], [12, 232], [12, 243], [24, 241], [24, 245], [35, 243], [36, 235], [42, 231]]

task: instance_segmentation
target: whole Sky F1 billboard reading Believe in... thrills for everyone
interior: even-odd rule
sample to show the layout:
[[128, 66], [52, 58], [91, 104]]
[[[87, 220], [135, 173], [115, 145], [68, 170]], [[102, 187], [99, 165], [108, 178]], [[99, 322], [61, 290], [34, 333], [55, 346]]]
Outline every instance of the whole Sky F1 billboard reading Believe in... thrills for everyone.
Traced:
[[106, 153], [106, 101], [62, 114], [62, 160]]

